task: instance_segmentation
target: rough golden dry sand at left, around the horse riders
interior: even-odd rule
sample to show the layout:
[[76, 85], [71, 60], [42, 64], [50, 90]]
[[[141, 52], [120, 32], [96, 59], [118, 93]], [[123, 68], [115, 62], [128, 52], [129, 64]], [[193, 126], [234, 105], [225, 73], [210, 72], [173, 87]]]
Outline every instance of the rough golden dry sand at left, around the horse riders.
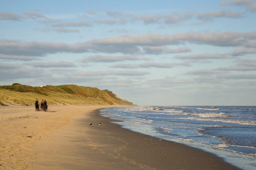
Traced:
[[0, 169], [34, 169], [29, 163], [34, 146], [76, 115], [109, 106], [49, 106], [36, 112], [31, 106], [0, 106]]

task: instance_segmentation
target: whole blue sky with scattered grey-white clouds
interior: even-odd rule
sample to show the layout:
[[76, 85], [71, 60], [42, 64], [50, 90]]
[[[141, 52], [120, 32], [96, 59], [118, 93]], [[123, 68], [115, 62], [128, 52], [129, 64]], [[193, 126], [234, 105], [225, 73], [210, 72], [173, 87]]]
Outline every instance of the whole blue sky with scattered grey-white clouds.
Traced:
[[0, 85], [137, 105], [256, 105], [255, 0], [1, 0]]

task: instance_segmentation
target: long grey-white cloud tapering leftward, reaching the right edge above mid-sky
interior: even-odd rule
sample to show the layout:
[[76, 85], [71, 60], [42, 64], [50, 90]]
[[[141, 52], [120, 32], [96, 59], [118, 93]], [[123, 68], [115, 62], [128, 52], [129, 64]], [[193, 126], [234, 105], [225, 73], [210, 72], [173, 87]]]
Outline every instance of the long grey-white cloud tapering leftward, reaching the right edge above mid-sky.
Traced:
[[208, 44], [214, 46], [241, 46], [249, 40], [256, 39], [256, 32], [187, 32], [168, 34], [146, 34], [123, 37], [112, 37], [88, 41], [98, 45], [136, 45], [136, 46], [162, 46], [177, 45], [183, 43]]

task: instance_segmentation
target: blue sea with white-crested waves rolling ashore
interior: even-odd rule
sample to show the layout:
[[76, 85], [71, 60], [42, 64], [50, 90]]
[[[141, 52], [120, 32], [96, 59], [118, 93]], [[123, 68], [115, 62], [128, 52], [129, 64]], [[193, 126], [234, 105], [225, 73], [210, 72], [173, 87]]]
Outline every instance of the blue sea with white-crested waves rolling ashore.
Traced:
[[122, 128], [186, 144], [256, 169], [256, 106], [134, 106], [100, 114]]

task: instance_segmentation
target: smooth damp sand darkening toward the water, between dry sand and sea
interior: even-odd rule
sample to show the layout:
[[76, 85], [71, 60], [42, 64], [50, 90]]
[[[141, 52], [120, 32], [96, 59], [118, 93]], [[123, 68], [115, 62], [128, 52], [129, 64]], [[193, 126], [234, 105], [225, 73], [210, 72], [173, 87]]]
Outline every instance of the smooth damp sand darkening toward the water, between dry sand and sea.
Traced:
[[35, 149], [43, 156], [35, 158], [44, 161], [36, 164], [41, 169], [239, 169], [200, 149], [122, 128], [100, 109], [78, 116], [39, 144]]

